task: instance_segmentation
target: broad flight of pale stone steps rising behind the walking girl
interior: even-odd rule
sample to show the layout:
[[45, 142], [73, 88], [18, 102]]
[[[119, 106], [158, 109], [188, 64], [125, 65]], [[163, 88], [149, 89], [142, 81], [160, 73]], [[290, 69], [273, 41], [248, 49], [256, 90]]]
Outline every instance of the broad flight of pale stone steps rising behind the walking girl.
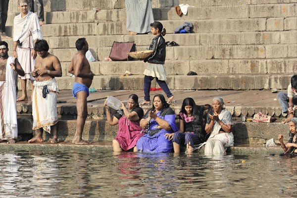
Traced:
[[[180, 3], [195, 7], [180, 17], [174, 8]], [[19, 13], [16, 4], [9, 2], [8, 35]], [[143, 88], [142, 61], [102, 62], [113, 41], [135, 41], [138, 51], [149, 47], [152, 35], [127, 35], [126, 7], [132, 5], [124, 0], [44, 0], [44, 7], [42, 31], [63, 68], [63, 77], [57, 78], [60, 90], [72, 88], [67, 66], [80, 37], [87, 38], [98, 60], [91, 63], [94, 88]], [[297, 0], [152, 0], [152, 7], [155, 20], [167, 30], [165, 40], [180, 45], [166, 48], [170, 89], [286, 89], [297, 70]], [[173, 34], [185, 21], [194, 24], [193, 33]], [[12, 49], [12, 40], [7, 41]], [[134, 75], [121, 76], [126, 70]], [[187, 76], [189, 71], [198, 75]]]

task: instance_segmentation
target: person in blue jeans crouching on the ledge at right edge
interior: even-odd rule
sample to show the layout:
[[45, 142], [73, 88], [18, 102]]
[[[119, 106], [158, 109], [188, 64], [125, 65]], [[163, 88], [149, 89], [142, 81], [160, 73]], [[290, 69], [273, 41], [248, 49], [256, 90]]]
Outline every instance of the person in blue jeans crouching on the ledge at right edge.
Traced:
[[278, 93], [277, 99], [282, 106], [282, 113], [288, 113], [288, 118], [284, 119], [282, 123], [288, 123], [294, 117], [294, 105], [297, 105], [297, 74], [291, 77], [287, 93]]

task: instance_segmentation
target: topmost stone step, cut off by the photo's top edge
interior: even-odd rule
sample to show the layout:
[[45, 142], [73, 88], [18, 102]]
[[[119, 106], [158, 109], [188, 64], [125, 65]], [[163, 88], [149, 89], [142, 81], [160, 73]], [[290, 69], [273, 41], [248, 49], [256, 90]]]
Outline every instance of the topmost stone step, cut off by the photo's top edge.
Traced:
[[[178, 4], [194, 5], [196, 7], [209, 7], [209, 6], [229, 6], [236, 7], [240, 6], [244, 9], [249, 5], [259, 5], [259, 9], [265, 10], [265, 6], [269, 4], [277, 3], [296, 3], [297, 0], [152, 0], [152, 8], [172, 7]], [[133, 5], [127, 5], [127, 8]], [[124, 0], [44, 0], [45, 11], [76, 11], [76, 10], [92, 10], [93, 8], [98, 9], [120, 9], [126, 8]], [[17, 0], [10, 0], [8, 6], [9, 12], [19, 12], [17, 8]], [[36, 9], [35, 9], [36, 10]]]

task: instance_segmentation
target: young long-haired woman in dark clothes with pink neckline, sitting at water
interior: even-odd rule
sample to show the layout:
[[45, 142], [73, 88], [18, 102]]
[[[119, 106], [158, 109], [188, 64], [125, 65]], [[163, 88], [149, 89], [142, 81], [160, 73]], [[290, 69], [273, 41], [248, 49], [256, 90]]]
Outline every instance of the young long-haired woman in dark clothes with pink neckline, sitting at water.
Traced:
[[184, 99], [182, 109], [179, 113], [180, 130], [165, 134], [169, 140], [172, 139], [174, 152], [180, 152], [181, 145], [186, 145], [187, 151], [193, 152], [194, 145], [204, 142], [204, 110], [205, 106], [196, 105], [193, 98]]

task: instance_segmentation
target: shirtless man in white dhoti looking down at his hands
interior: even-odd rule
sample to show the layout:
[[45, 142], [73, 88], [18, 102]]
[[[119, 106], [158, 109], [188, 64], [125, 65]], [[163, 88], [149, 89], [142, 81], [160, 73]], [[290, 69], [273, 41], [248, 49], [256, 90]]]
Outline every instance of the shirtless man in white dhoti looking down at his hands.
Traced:
[[49, 45], [46, 40], [38, 40], [35, 43], [35, 51], [39, 55], [36, 58], [35, 69], [32, 76], [35, 77], [32, 98], [33, 130], [36, 136], [29, 143], [43, 142], [43, 131], [51, 132], [51, 143], [57, 143], [57, 94], [59, 92], [54, 77], [62, 76], [60, 61], [49, 54]]

